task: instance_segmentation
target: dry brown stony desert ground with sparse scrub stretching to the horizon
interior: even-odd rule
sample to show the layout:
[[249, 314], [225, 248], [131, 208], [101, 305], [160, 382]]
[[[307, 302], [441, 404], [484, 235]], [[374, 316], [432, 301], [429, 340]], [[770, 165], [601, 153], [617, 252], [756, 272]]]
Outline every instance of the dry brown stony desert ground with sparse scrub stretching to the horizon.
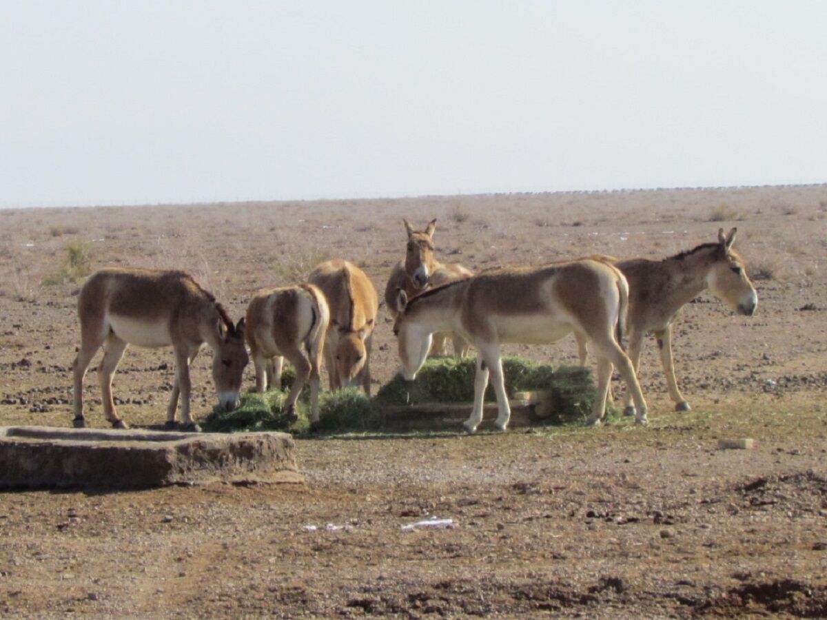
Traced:
[[[690, 413], [672, 411], [648, 345], [647, 428], [318, 438], [298, 441], [301, 486], [2, 493], [0, 613], [827, 616], [825, 186], [2, 211], [0, 423], [69, 424], [79, 283], [43, 283], [70, 242], [93, 268], [187, 269], [240, 317], [257, 288], [324, 258], [353, 260], [381, 293], [402, 217], [437, 217], [437, 255], [472, 269], [662, 257], [738, 226], [758, 312], [708, 294], [685, 308]], [[375, 344], [382, 383], [395, 346], [381, 319]], [[508, 352], [576, 360], [571, 339]], [[197, 413], [213, 403], [209, 358]], [[171, 380], [170, 351], [127, 351], [127, 422], [162, 422]], [[104, 426], [93, 373], [87, 392]], [[757, 447], [717, 449], [739, 437]], [[428, 516], [456, 527], [402, 531]]]

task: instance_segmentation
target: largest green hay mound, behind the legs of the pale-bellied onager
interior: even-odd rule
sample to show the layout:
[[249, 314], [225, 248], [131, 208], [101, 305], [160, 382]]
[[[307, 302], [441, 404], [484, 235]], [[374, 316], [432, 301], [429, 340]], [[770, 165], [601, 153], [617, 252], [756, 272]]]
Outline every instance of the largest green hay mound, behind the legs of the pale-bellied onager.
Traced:
[[[584, 419], [595, 403], [595, 383], [591, 370], [581, 366], [539, 364], [522, 357], [504, 357], [505, 391], [509, 397], [525, 390], [550, 390], [554, 394], [557, 422]], [[476, 360], [470, 358], [429, 358], [415, 381], [397, 375], [376, 395], [383, 405], [422, 403], [471, 403], [474, 400]], [[495, 400], [489, 384], [485, 399]]]

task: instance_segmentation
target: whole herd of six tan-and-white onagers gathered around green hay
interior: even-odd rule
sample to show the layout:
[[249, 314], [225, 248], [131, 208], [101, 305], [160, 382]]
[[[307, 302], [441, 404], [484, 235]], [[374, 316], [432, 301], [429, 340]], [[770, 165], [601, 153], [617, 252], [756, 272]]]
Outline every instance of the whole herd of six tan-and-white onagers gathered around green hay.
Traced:
[[[508, 427], [500, 345], [545, 344], [573, 333], [586, 363], [587, 345], [597, 358], [597, 398], [589, 417], [600, 424], [609, 398], [609, 379], [617, 368], [627, 386], [625, 413], [647, 422], [646, 401], [637, 371], [643, 336], [652, 332], [677, 411], [689, 409], [672, 364], [672, 321], [705, 289], [739, 314], [751, 316], [758, 297], [746, 267], [733, 250], [736, 229], [663, 260], [618, 260], [592, 255], [542, 267], [495, 269], [472, 274], [462, 265], [442, 265], [434, 257], [436, 220], [423, 231], [404, 221], [408, 241], [404, 260], [394, 266], [385, 303], [394, 317], [401, 372], [414, 380], [428, 355], [445, 355], [451, 340], [455, 355], [476, 348], [474, 405], [468, 432], [482, 421], [489, 380], [499, 414], [496, 427]], [[112, 401], [112, 375], [127, 345], [172, 346], [175, 379], [167, 408], [167, 427], [198, 431], [190, 413], [189, 366], [207, 343], [213, 350], [213, 383], [218, 407], [238, 406], [244, 368], [252, 357], [256, 390], [280, 387], [286, 357], [296, 378], [285, 402], [294, 416], [296, 400], [310, 384], [312, 422], [318, 422], [322, 359], [331, 390], [360, 384], [370, 395], [370, 353], [379, 295], [367, 275], [347, 260], [318, 265], [308, 282], [263, 289], [253, 296], [246, 317], [233, 323], [215, 297], [180, 271], [101, 269], [84, 284], [78, 300], [81, 343], [74, 360], [74, 426], [84, 427], [83, 382], [99, 348], [103, 411], [115, 428], [126, 428]], [[629, 354], [622, 344], [629, 335]], [[249, 349], [249, 356], [248, 356]]]

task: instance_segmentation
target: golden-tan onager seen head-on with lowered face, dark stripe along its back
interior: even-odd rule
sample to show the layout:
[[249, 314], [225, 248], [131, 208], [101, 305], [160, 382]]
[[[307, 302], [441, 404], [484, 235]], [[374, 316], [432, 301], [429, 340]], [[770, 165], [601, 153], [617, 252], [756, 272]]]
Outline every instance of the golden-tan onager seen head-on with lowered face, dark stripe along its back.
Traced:
[[324, 357], [331, 391], [361, 379], [370, 396], [370, 350], [379, 293], [365, 272], [347, 260], [318, 265], [308, 282], [322, 290], [330, 308]]

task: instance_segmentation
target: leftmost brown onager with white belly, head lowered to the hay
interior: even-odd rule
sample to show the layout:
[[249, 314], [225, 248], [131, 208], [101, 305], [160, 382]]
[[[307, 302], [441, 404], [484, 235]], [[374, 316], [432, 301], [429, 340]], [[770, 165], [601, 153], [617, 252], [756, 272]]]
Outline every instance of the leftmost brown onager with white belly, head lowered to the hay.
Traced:
[[175, 427], [181, 397], [184, 430], [199, 431], [189, 413], [189, 365], [204, 342], [213, 349], [213, 382], [218, 406], [237, 407], [241, 374], [249, 361], [244, 348], [244, 319], [237, 325], [212, 294], [188, 274], [152, 269], [101, 269], [92, 274], [78, 298], [80, 351], [74, 360], [74, 426], [85, 427], [84, 375], [103, 346], [98, 377], [103, 412], [115, 428], [127, 428], [112, 402], [112, 375], [127, 345], [172, 346], [175, 382], [167, 408], [168, 428]]

